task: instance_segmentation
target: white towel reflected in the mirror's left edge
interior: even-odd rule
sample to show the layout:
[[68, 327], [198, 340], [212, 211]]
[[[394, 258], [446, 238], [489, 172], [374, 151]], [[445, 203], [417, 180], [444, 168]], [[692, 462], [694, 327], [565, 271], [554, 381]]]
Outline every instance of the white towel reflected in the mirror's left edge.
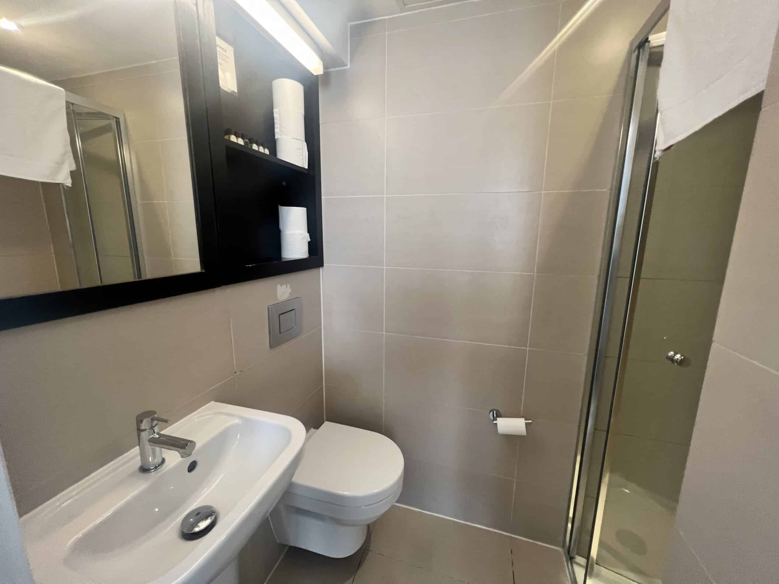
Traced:
[[65, 90], [0, 65], [0, 174], [70, 186]]

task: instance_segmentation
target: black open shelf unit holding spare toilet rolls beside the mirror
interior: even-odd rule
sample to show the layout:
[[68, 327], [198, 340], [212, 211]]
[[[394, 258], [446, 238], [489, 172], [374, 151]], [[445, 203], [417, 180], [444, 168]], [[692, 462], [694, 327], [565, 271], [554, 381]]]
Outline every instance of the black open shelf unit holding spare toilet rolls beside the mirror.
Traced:
[[[202, 44], [221, 280], [236, 283], [321, 267], [319, 78], [230, 0], [214, 0], [213, 20], [206, 20], [213, 26], [204, 31]], [[219, 86], [217, 36], [233, 47], [238, 93]], [[272, 83], [280, 78], [294, 79], [304, 88], [308, 169], [274, 156]], [[225, 128], [264, 142], [270, 154], [225, 139]], [[307, 209], [308, 258], [281, 258], [280, 205]]]

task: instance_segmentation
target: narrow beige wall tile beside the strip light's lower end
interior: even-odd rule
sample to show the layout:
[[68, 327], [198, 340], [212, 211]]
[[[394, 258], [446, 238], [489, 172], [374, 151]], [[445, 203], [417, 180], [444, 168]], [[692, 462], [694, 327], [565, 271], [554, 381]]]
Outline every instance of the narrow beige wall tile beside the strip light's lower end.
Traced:
[[349, 68], [319, 78], [319, 121], [384, 117], [386, 35], [351, 40]]

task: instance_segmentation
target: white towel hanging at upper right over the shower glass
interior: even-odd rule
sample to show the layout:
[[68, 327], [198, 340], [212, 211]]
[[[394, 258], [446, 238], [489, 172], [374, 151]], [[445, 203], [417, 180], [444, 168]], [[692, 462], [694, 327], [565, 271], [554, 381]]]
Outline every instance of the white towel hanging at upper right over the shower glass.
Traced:
[[766, 86], [777, 0], [673, 0], [657, 102], [656, 155]]

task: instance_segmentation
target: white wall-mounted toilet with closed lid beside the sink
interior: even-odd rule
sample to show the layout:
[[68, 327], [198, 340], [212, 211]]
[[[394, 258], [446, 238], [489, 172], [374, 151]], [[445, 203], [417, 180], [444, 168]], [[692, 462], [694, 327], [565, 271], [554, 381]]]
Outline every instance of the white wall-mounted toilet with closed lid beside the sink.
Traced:
[[403, 469], [390, 438], [325, 422], [309, 435], [292, 482], [270, 512], [276, 539], [330, 558], [354, 554], [368, 524], [400, 496]]

